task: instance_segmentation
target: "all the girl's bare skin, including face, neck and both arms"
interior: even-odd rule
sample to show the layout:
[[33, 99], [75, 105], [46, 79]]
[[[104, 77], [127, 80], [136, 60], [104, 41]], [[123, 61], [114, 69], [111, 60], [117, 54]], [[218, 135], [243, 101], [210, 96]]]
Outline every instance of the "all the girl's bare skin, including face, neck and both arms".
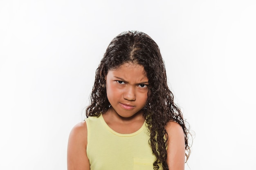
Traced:
[[[136, 132], [144, 123], [141, 109], [148, 99], [148, 78], [143, 66], [126, 63], [105, 77], [111, 107], [103, 114], [110, 128], [122, 134]], [[184, 170], [185, 141], [182, 127], [168, 122], [167, 163], [170, 170]], [[71, 130], [67, 147], [67, 170], [90, 170], [86, 155], [87, 126], [83, 121]]]

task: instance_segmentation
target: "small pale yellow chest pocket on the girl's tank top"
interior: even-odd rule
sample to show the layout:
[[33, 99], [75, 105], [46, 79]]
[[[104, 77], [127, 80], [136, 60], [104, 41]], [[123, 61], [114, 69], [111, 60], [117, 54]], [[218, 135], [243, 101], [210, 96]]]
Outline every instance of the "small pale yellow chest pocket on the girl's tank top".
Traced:
[[133, 170], [153, 170], [154, 159], [150, 158], [133, 158]]

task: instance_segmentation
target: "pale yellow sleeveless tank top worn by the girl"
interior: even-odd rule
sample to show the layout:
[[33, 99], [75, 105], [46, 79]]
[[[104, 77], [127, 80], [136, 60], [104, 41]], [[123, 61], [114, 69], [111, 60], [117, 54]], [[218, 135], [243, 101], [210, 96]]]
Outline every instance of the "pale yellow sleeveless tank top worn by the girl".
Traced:
[[106, 124], [102, 115], [85, 121], [90, 170], [153, 170], [156, 157], [148, 144], [146, 122], [137, 132], [120, 134]]

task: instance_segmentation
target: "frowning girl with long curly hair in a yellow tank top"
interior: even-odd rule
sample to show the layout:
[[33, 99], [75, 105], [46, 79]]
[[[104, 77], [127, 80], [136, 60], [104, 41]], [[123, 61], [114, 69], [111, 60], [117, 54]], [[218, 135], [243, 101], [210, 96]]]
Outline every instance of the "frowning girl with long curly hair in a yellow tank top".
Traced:
[[189, 129], [147, 34], [123, 32], [110, 42], [86, 116], [70, 132], [68, 170], [184, 170]]

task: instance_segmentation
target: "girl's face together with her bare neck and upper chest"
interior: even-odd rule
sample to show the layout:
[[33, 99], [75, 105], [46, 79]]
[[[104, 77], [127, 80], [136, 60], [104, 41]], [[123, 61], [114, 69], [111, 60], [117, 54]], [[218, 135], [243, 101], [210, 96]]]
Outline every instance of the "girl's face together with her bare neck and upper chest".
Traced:
[[143, 112], [148, 99], [148, 78], [143, 66], [126, 63], [106, 76], [110, 109], [103, 118], [116, 132], [136, 132], [144, 123]]

